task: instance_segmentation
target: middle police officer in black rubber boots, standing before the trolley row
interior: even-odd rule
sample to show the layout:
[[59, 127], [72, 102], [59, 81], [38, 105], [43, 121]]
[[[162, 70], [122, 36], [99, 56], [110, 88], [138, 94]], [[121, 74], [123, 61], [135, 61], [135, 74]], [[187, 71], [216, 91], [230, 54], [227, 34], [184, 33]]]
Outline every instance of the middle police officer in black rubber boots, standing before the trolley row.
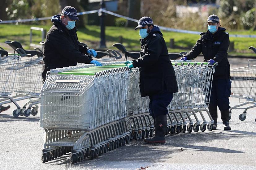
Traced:
[[142, 17], [135, 29], [140, 29], [141, 53], [137, 60], [127, 61], [129, 68], [139, 67], [141, 97], [150, 98], [150, 115], [154, 118], [155, 136], [148, 143], [165, 143], [168, 113], [173, 93], [178, 91], [175, 71], [169, 59], [163, 34], [150, 17]]

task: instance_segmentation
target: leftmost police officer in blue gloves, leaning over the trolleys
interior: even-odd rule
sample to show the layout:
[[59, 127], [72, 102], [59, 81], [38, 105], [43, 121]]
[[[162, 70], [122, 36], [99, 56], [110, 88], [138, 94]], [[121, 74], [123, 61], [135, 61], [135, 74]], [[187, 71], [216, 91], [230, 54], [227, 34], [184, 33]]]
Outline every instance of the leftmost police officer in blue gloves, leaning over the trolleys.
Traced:
[[75, 27], [77, 11], [73, 6], [66, 6], [61, 15], [54, 15], [51, 19], [53, 26], [47, 32], [43, 47], [44, 71], [43, 81], [47, 71], [51, 69], [76, 66], [77, 62], [102, 66], [86, 54], [97, 56], [97, 52], [86, 45], [80, 44]]

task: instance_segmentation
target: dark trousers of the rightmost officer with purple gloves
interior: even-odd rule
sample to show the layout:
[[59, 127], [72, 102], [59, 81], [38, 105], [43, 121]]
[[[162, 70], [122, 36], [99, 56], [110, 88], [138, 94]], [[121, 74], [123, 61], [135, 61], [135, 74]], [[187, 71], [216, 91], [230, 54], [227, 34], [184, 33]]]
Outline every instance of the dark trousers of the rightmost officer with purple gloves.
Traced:
[[219, 107], [221, 119], [228, 121], [229, 118], [229, 97], [231, 94], [231, 81], [230, 79], [213, 80], [211, 88], [211, 96], [209, 102], [209, 112], [214, 122], [217, 123]]

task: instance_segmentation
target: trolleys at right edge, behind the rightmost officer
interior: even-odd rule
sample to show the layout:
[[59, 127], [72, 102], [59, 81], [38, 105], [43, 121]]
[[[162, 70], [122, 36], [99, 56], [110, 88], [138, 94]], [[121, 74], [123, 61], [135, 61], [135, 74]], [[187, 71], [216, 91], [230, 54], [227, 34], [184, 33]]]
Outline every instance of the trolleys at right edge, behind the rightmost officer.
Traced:
[[230, 75], [232, 82], [231, 96], [238, 98], [239, 101], [240, 99], [244, 99], [246, 102], [231, 107], [229, 109], [229, 118], [231, 119], [233, 109], [244, 109], [243, 113], [238, 117], [241, 121], [244, 121], [246, 119], [247, 110], [256, 107], [256, 65], [249, 66], [248, 61], [248, 66], [232, 69], [230, 70]]

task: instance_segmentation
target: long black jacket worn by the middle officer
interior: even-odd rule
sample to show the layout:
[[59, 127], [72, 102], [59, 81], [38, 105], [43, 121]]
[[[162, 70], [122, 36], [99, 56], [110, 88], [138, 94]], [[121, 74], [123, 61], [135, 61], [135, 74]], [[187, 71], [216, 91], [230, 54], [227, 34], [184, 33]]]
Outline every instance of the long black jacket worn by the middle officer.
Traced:
[[141, 97], [177, 92], [175, 71], [159, 27], [154, 26], [149, 35], [140, 41], [140, 57], [133, 60], [133, 66], [140, 69]]

